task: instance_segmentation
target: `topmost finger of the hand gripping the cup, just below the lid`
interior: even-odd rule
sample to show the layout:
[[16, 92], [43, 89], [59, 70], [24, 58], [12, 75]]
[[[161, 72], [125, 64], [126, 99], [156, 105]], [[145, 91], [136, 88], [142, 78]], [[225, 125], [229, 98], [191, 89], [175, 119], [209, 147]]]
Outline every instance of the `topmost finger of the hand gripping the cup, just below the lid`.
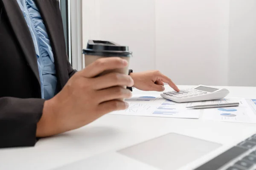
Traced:
[[84, 68], [84, 70], [80, 71], [79, 74], [87, 78], [96, 77], [105, 70], [125, 68], [127, 65], [128, 62], [120, 57], [105, 57], [97, 59], [95, 62]]

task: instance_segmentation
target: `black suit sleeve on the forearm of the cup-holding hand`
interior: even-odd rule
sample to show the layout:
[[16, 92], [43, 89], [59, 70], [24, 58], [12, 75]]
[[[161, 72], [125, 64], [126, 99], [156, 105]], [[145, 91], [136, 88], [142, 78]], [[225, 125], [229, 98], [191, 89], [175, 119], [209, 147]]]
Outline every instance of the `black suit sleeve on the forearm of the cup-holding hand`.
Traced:
[[35, 145], [44, 102], [44, 99], [0, 98], [0, 148]]

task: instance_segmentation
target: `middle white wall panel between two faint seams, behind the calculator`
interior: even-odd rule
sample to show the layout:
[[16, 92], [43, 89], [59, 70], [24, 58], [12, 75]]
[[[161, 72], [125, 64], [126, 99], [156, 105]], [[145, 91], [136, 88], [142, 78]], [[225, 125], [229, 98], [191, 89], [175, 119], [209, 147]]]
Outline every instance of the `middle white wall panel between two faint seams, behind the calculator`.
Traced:
[[229, 0], [156, 0], [157, 69], [177, 84], [226, 85]]

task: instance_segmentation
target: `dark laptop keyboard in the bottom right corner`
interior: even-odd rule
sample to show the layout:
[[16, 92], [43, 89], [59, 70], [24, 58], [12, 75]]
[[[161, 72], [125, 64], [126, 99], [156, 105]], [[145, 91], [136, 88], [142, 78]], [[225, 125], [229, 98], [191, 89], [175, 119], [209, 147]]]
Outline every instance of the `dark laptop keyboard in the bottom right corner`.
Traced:
[[195, 170], [256, 170], [256, 134]]

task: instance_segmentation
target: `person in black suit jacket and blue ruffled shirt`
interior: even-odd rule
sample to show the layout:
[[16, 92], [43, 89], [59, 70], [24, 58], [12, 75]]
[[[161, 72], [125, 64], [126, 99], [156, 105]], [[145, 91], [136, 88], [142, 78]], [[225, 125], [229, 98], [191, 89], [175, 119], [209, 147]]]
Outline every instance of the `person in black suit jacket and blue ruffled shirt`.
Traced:
[[159, 71], [111, 73], [127, 66], [118, 57], [99, 59], [76, 72], [68, 62], [57, 0], [0, 0], [0, 147], [34, 146], [93, 122], [128, 104], [134, 86], [163, 91], [177, 86]]

